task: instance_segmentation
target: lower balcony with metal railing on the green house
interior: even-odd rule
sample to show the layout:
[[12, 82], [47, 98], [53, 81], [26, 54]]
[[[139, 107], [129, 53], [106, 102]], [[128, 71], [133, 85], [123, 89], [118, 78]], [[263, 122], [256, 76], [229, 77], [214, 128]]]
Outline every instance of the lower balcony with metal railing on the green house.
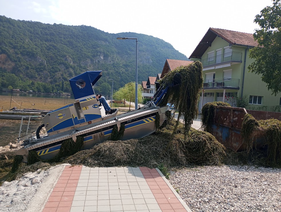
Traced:
[[239, 90], [240, 79], [218, 78], [203, 80], [204, 89], [234, 89]]

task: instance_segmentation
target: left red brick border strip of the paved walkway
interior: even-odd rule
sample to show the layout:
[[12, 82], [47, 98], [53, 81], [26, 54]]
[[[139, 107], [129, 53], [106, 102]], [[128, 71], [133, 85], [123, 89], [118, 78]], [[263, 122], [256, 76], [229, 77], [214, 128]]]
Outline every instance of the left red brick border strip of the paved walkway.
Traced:
[[82, 166], [65, 166], [43, 212], [69, 212]]

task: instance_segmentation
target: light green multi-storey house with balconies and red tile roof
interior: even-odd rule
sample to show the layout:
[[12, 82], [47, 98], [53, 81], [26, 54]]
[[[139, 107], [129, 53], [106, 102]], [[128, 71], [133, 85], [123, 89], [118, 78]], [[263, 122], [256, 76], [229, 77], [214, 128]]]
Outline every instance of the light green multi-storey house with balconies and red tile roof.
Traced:
[[[246, 109], [270, 110], [281, 104], [281, 94], [272, 92], [262, 82], [261, 75], [248, 72], [249, 49], [258, 46], [253, 34], [209, 28], [189, 59], [203, 64], [203, 88], [199, 111], [213, 101], [233, 103], [233, 96], [247, 96]], [[203, 102], [202, 102], [203, 97]]]

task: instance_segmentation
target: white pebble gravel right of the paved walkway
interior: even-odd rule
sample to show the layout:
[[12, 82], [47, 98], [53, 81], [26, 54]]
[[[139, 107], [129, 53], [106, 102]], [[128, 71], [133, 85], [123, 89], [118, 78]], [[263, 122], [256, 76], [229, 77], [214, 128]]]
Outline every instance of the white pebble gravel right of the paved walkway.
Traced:
[[192, 211], [281, 211], [281, 169], [201, 166], [170, 172]]

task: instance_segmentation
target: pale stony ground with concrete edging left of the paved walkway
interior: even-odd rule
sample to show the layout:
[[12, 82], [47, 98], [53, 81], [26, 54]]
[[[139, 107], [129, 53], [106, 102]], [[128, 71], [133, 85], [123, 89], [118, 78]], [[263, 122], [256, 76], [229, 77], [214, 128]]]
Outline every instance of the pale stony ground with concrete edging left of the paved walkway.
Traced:
[[40, 211], [64, 164], [29, 172], [0, 186], [0, 211]]

